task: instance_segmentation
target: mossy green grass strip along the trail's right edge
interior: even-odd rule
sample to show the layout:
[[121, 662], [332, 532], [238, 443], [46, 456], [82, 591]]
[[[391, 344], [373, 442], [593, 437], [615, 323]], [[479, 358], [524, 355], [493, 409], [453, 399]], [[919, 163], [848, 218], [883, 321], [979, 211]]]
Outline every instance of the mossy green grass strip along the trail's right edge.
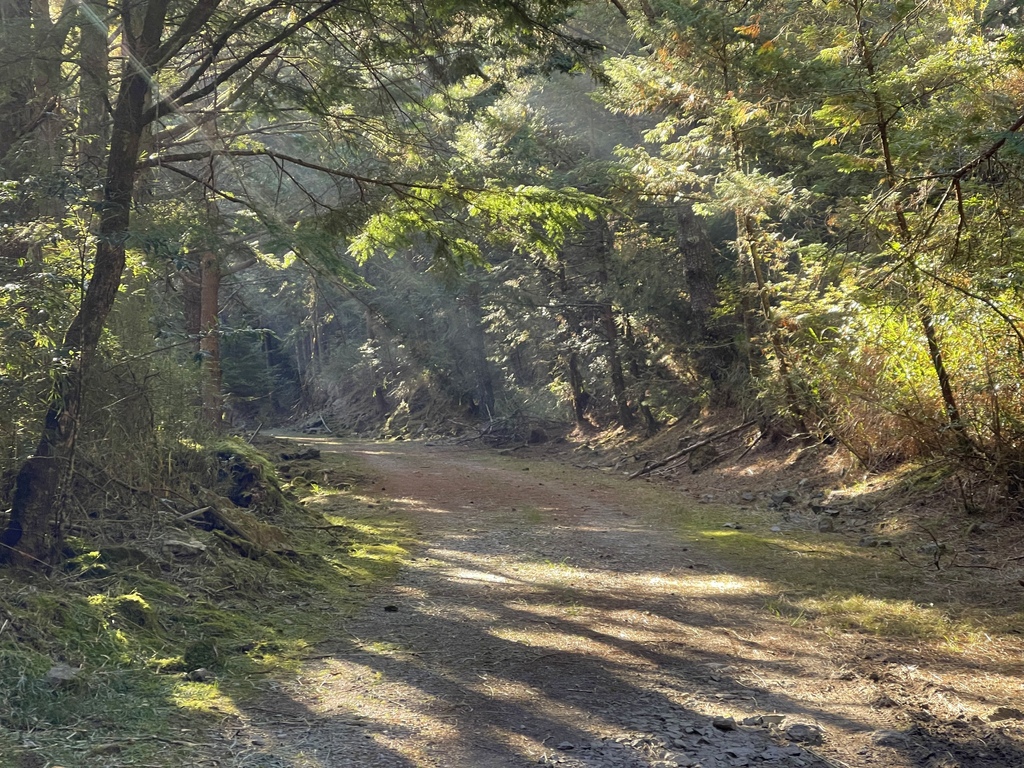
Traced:
[[[503, 466], [516, 462], [526, 463], [513, 460]], [[575, 476], [559, 465], [528, 464], [538, 477]], [[1024, 613], [958, 598], [962, 573], [909, 564], [900, 559], [898, 547], [860, 547], [855, 535], [772, 531], [776, 516], [763, 511], [695, 502], [682, 506], [677, 492], [655, 483], [597, 472], [584, 477], [697, 544], [701, 557], [712, 560], [712, 571], [758, 580], [765, 610], [794, 626], [927, 640], [954, 651], [992, 635], [1024, 634]], [[887, 535], [899, 544], [898, 531]]]

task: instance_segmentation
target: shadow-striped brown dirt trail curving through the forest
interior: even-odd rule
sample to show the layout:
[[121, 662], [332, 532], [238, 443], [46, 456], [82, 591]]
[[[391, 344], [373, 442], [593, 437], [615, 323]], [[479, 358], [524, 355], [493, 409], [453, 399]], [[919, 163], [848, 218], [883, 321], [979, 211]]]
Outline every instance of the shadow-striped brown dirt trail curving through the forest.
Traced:
[[295, 439], [358, 457], [370, 503], [423, 545], [248, 709], [217, 765], [1024, 765], [981, 726], [922, 728], [886, 703], [896, 686], [946, 716], [899, 649], [772, 615], [770, 584], [683, 541], [638, 501], [649, 486], [451, 445]]

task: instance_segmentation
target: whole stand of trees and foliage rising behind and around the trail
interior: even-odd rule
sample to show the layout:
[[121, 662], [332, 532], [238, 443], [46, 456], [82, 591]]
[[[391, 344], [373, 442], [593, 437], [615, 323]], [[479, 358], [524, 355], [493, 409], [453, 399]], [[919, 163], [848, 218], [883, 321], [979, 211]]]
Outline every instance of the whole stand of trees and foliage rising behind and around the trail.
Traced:
[[0, 558], [310, 420], [728, 410], [1014, 499], [1021, 15], [2, 0]]

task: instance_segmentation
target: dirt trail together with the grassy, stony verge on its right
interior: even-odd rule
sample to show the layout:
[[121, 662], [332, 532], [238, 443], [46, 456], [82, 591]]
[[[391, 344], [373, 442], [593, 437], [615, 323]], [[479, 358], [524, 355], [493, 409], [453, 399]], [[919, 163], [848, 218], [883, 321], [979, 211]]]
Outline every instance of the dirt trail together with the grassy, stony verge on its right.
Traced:
[[564, 443], [278, 439], [357, 457], [420, 543], [197, 765], [1024, 766], [1006, 528], [791, 459], [649, 481]]

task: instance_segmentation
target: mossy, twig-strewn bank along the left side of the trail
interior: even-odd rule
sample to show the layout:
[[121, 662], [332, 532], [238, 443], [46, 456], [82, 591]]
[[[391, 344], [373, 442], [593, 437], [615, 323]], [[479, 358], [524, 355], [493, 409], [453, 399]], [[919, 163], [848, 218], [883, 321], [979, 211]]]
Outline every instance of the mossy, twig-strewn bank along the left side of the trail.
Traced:
[[[168, 513], [142, 516], [163, 527], [117, 544], [77, 531], [50, 574], [0, 572], [0, 768], [188, 765], [211, 714], [298, 669], [367, 587], [396, 572], [409, 531], [356, 496], [349, 460], [326, 456], [317, 482], [293, 485], [241, 441], [190, 451], [207, 482], [251, 475], [239, 513], [246, 530], [272, 528], [272, 544], [246, 557], [223, 531]], [[167, 539], [206, 549], [165, 556]], [[70, 679], [48, 677], [61, 666]], [[188, 679], [200, 668], [211, 677]]]

